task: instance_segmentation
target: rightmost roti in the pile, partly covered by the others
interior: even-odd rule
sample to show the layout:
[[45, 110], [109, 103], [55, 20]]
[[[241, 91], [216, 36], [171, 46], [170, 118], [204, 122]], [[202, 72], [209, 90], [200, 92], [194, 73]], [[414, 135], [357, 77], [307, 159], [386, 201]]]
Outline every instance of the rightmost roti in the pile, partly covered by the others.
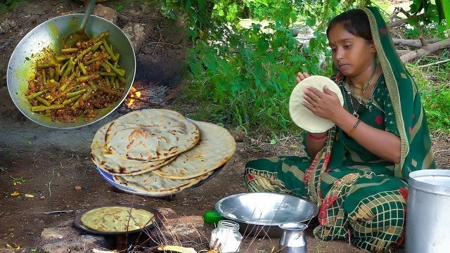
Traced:
[[221, 126], [193, 122], [200, 129], [200, 141], [175, 160], [153, 170], [167, 179], [193, 179], [225, 164], [236, 151], [233, 136]]

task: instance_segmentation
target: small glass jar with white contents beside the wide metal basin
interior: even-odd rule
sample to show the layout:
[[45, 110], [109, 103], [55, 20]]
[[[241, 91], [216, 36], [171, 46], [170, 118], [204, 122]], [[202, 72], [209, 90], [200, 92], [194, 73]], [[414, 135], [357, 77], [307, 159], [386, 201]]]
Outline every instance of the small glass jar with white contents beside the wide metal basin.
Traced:
[[210, 247], [221, 253], [238, 252], [242, 238], [238, 223], [221, 220], [211, 233]]

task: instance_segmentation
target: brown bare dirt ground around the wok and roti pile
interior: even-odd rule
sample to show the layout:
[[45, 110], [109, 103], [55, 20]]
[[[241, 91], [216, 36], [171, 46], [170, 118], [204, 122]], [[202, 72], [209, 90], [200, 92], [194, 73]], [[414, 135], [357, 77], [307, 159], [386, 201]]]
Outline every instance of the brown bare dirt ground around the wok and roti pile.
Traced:
[[[136, 78], [148, 79], [169, 87], [183, 80], [184, 31], [160, 16], [144, 1], [106, 1], [104, 6], [119, 12], [117, 25], [140, 22], [150, 36], [136, 51], [139, 69]], [[214, 209], [221, 198], [246, 192], [243, 168], [246, 162], [275, 155], [302, 155], [300, 140], [286, 138], [270, 145], [271, 136], [249, 133], [238, 142], [235, 155], [217, 176], [203, 186], [177, 194], [173, 200], [118, 193], [96, 171], [91, 162], [90, 145], [97, 129], [119, 117], [113, 112], [100, 122], [81, 129], [49, 129], [31, 122], [15, 108], [6, 86], [6, 67], [18, 41], [32, 28], [62, 13], [80, 13], [81, 1], [28, 1], [0, 17], [0, 252], [7, 244], [20, 245], [22, 252], [39, 248], [44, 228], [62, 221], [72, 221], [76, 214], [102, 205], [134, 203], [148, 207], [169, 207], [177, 214], [200, 215]], [[160, 29], [164, 27], [165, 29]], [[155, 42], [164, 42], [155, 46]], [[166, 105], [182, 113], [195, 112], [191, 105]], [[230, 129], [233, 130], [233, 129]], [[437, 136], [434, 141], [436, 162], [440, 169], [450, 164], [450, 139]], [[14, 179], [25, 179], [14, 183]], [[18, 180], [16, 180], [17, 182]], [[82, 190], [75, 190], [82, 186]], [[19, 196], [11, 195], [15, 191]], [[25, 197], [25, 193], [34, 197]], [[58, 210], [66, 213], [44, 214]], [[205, 225], [210, 226], [210, 225]], [[248, 238], [251, 240], [252, 238]], [[317, 240], [307, 233], [308, 252], [365, 252], [348, 242]], [[255, 240], [246, 252], [271, 252], [274, 242]]]

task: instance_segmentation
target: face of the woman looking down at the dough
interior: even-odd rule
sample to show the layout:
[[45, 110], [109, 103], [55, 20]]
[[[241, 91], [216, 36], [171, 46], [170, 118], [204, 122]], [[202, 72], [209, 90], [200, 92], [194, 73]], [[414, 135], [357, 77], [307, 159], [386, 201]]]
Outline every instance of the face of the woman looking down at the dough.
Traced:
[[357, 77], [375, 63], [373, 42], [349, 33], [342, 23], [331, 28], [328, 41], [335, 66], [347, 77]]

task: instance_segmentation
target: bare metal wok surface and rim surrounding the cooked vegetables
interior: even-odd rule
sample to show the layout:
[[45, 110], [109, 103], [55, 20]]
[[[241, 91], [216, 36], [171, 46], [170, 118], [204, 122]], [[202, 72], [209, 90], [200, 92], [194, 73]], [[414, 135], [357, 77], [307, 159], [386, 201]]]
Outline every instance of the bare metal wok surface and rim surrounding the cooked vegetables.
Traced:
[[11, 55], [6, 74], [8, 91], [20, 112], [33, 122], [58, 129], [70, 129], [92, 124], [113, 112], [127, 97], [131, 89], [136, 72], [136, 58], [131, 42], [127, 35], [112, 22], [91, 15], [86, 25], [86, 34], [93, 38], [101, 32], [109, 32], [108, 43], [113, 44], [114, 51], [120, 53], [119, 64], [125, 70], [126, 75], [125, 90], [122, 97], [108, 108], [98, 110], [98, 116], [89, 122], [85, 122], [82, 117], [79, 117], [75, 123], [56, 122], [50, 117], [31, 111], [31, 105], [25, 98], [25, 91], [27, 91], [29, 79], [34, 77], [36, 72], [35, 67], [39, 53], [47, 47], [53, 51], [58, 51], [63, 44], [63, 38], [79, 30], [82, 18], [83, 14], [71, 14], [43, 22], [23, 37]]

